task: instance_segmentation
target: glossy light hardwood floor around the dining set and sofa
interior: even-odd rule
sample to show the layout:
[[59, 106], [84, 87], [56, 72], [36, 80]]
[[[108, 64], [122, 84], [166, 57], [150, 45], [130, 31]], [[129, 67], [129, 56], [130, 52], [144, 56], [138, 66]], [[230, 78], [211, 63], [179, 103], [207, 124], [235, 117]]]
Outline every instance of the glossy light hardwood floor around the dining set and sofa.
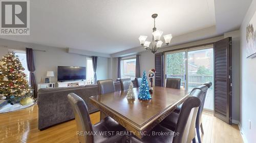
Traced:
[[[92, 113], [90, 117], [93, 124], [99, 122], [99, 112]], [[75, 120], [40, 131], [37, 129], [37, 118], [37, 105], [0, 114], [0, 142], [79, 142], [76, 137]], [[210, 112], [203, 113], [203, 128], [204, 143], [243, 142], [237, 125], [227, 125], [213, 117]]]

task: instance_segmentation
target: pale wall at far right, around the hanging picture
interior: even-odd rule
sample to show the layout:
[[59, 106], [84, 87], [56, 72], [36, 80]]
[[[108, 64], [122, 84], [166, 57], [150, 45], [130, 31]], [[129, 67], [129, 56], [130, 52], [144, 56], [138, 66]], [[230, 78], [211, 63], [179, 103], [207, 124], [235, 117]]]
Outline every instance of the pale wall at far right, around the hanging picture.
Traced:
[[[240, 123], [243, 135], [248, 142], [256, 141], [256, 58], [246, 58], [246, 25], [255, 10], [256, 0], [253, 0], [240, 27]], [[249, 129], [249, 120], [251, 121], [251, 129]]]

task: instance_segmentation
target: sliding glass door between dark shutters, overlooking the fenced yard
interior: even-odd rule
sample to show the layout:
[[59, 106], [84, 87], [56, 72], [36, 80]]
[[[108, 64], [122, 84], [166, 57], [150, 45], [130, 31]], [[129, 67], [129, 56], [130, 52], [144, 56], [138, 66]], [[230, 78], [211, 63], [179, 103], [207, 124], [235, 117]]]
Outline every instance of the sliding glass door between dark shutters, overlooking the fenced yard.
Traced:
[[181, 79], [181, 89], [191, 91], [193, 88], [210, 81], [212, 86], [207, 91], [204, 108], [214, 109], [214, 49], [200, 47], [180, 51], [165, 52], [165, 85], [166, 78]]

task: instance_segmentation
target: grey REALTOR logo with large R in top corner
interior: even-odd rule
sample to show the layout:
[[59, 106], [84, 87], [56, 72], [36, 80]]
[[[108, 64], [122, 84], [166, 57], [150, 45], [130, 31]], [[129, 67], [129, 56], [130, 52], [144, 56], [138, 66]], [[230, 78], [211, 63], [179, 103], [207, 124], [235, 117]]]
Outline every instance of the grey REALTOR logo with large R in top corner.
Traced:
[[2, 0], [0, 7], [0, 35], [30, 35], [29, 0]]

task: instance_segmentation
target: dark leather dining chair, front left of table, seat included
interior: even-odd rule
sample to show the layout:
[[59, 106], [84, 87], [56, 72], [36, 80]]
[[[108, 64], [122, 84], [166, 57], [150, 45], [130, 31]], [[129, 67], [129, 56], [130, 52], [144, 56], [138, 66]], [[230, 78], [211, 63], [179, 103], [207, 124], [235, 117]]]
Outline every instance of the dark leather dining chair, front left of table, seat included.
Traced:
[[[68, 95], [68, 100], [75, 114], [78, 140], [86, 142], [124, 142], [126, 136], [118, 132], [125, 132], [125, 128], [110, 117], [104, 118], [99, 123], [92, 125], [86, 103], [74, 93]], [[113, 134], [100, 134], [100, 132], [113, 132]]]

